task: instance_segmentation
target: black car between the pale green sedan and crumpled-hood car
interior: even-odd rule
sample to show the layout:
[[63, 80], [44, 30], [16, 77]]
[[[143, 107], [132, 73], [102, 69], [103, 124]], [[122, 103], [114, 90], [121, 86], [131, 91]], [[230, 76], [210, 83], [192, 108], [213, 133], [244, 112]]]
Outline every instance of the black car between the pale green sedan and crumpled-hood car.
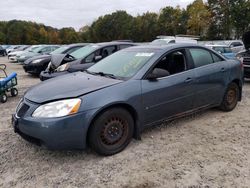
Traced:
[[23, 68], [25, 72], [33, 74], [33, 75], [40, 75], [42, 71], [44, 71], [47, 67], [49, 62], [51, 61], [51, 56], [54, 54], [70, 54], [79, 48], [86, 46], [87, 44], [71, 44], [67, 46], [62, 46], [55, 51], [51, 52], [47, 55], [39, 55], [32, 58], [27, 59], [24, 64]]

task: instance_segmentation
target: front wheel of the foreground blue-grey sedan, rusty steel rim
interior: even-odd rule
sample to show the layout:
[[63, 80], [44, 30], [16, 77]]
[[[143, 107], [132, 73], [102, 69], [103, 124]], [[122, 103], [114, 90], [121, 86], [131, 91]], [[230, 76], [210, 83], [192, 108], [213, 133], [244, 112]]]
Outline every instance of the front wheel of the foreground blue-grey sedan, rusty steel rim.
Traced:
[[99, 115], [88, 132], [89, 146], [100, 155], [114, 155], [131, 141], [134, 120], [123, 108], [111, 108]]

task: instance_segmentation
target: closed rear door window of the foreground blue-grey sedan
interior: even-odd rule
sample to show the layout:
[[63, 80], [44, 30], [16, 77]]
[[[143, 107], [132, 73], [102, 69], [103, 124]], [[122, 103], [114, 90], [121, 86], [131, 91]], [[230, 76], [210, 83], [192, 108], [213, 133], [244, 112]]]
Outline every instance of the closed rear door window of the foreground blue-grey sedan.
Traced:
[[214, 62], [211, 53], [207, 50], [192, 48], [190, 49], [190, 53], [195, 67], [205, 66]]

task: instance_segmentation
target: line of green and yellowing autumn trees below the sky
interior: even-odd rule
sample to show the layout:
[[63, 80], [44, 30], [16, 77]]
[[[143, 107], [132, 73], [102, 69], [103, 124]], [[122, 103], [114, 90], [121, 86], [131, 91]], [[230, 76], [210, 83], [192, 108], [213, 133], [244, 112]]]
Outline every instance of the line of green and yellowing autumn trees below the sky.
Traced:
[[152, 41], [157, 35], [196, 35], [204, 40], [239, 39], [250, 30], [249, 0], [195, 0], [185, 9], [167, 6], [159, 13], [132, 16], [116, 11], [79, 31], [27, 21], [0, 21], [0, 44], [70, 44], [131, 39]]

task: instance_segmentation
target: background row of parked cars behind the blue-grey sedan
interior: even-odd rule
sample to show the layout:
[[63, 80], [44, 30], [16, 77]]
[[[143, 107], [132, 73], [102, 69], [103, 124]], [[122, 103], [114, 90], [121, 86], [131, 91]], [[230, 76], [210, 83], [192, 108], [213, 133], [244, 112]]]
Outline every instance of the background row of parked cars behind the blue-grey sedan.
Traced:
[[[197, 44], [197, 38], [158, 36], [151, 45], [165, 45], [171, 43]], [[226, 58], [236, 59], [242, 52], [242, 41], [206, 41], [199, 42], [211, 48]], [[71, 45], [34, 45], [14, 46], [8, 48], [7, 54], [11, 62], [19, 62], [25, 72], [40, 76], [47, 80], [56, 76], [83, 71], [110, 54], [127, 47], [138, 45], [130, 41], [114, 41], [107, 43], [79, 43]], [[248, 76], [248, 74], [245, 74]]]

